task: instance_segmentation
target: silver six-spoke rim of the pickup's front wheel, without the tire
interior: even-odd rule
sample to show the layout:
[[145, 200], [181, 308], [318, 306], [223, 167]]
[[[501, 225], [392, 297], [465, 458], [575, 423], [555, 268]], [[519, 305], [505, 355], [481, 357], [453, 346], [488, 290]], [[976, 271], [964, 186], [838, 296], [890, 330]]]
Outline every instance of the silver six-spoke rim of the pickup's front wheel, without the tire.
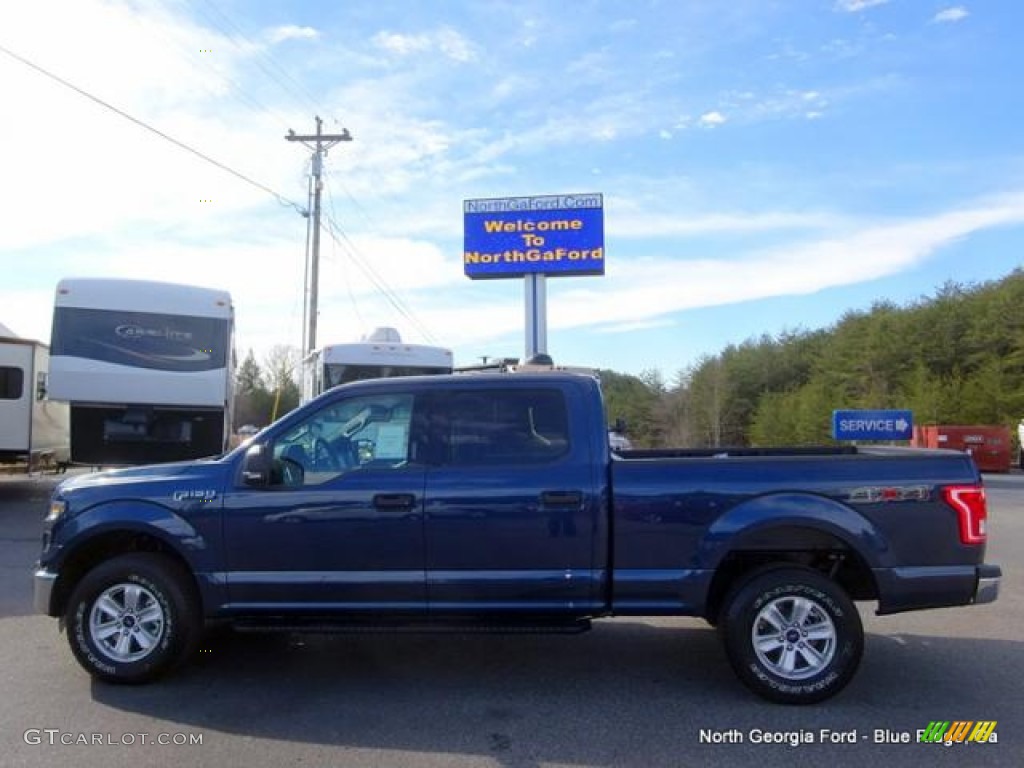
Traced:
[[89, 635], [113, 662], [129, 664], [156, 650], [167, 626], [157, 596], [137, 584], [117, 584], [96, 598], [89, 611]]

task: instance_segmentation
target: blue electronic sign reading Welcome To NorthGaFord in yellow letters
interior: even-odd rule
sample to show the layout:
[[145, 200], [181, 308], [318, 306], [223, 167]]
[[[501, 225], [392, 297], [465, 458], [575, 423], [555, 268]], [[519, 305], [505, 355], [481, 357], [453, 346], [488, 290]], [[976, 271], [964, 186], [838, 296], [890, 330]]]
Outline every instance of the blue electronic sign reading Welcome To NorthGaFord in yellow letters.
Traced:
[[467, 200], [463, 217], [467, 278], [604, 274], [601, 195]]

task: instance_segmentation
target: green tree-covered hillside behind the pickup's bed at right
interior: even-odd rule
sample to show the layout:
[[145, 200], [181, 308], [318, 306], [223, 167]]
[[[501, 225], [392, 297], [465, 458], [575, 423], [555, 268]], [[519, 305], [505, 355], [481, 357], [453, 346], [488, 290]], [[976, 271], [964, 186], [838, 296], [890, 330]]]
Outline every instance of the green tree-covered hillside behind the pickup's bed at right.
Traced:
[[609, 420], [641, 446], [831, 442], [831, 413], [909, 409], [915, 424], [1014, 427], [1024, 418], [1024, 270], [880, 301], [824, 330], [727, 346], [667, 382], [601, 372]]

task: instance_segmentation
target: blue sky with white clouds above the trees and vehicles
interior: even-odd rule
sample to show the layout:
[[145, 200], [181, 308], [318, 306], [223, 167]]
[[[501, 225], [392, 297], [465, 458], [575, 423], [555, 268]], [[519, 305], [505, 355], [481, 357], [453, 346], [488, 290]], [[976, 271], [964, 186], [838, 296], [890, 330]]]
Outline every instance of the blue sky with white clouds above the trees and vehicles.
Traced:
[[[463, 275], [462, 202], [601, 193], [606, 274], [548, 281], [549, 350], [667, 378], [1020, 266], [1022, 28], [995, 0], [0, 6], [0, 46], [300, 206], [287, 130], [351, 132], [321, 343], [522, 354], [522, 283]], [[0, 82], [0, 323], [47, 339], [58, 280], [133, 276], [230, 291], [242, 354], [299, 345], [293, 207], [2, 51]]]

